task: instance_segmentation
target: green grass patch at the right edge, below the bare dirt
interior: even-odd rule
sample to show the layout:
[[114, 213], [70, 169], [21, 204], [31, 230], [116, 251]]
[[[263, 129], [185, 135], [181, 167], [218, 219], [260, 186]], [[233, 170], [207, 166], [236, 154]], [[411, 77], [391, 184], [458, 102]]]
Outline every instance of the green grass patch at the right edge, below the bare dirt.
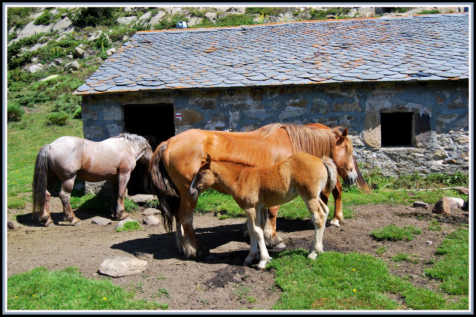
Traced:
[[469, 290], [469, 230], [457, 229], [446, 235], [436, 249], [441, 258], [426, 275], [442, 280], [441, 289], [449, 294], [468, 294]]

